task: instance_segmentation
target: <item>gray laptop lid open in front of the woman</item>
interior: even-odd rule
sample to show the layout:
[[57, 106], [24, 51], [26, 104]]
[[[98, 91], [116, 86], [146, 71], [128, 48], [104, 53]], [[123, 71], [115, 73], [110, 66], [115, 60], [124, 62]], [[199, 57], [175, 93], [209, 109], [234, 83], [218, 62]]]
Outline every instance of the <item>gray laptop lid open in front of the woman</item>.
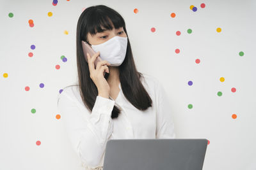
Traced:
[[103, 170], [202, 170], [207, 139], [110, 139]]

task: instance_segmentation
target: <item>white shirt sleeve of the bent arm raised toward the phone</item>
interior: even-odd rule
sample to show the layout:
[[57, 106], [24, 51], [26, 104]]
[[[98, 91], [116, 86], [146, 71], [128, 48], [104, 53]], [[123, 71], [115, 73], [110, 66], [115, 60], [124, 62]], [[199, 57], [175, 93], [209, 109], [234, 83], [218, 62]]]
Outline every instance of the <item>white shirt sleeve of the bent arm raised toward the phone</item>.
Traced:
[[84, 167], [97, 167], [100, 164], [106, 142], [113, 132], [111, 113], [114, 104], [115, 101], [111, 99], [97, 96], [92, 113], [89, 110], [84, 113], [64, 91], [58, 97], [58, 109], [68, 138]]

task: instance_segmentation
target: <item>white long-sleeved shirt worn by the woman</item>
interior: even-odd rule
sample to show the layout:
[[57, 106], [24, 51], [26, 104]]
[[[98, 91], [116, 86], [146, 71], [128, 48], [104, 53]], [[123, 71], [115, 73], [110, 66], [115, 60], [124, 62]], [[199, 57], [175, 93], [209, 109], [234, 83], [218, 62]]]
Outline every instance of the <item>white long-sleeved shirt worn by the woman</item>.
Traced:
[[[142, 78], [152, 99], [146, 111], [135, 108], [125, 98], [121, 85], [116, 100], [97, 96], [92, 113], [84, 106], [78, 85], [64, 89], [58, 101], [68, 138], [88, 169], [103, 166], [106, 142], [109, 139], [175, 138], [170, 103], [161, 83], [148, 74]], [[122, 109], [118, 118], [111, 118], [114, 105]]]

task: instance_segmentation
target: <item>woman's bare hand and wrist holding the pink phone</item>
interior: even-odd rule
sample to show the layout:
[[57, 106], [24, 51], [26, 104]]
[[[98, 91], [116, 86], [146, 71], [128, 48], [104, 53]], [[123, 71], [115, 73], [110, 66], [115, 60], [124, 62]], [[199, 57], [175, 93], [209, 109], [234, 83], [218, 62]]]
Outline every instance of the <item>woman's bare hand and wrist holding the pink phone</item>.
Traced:
[[[92, 78], [93, 82], [97, 86], [99, 96], [109, 98], [110, 87], [109, 87], [108, 81], [106, 80], [106, 78], [104, 78], [103, 73], [104, 71], [109, 73], [108, 66], [110, 65], [110, 63], [107, 60], [101, 60], [97, 62], [97, 66], [95, 69], [94, 61], [97, 57], [99, 57], [99, 55], [100, 55], [100, 52], [97, 52], [93, 54], [93, 56], [91, 57], [90, 54], [87, 53], [88, 66], [90, 70], [90, 78]], [[106, 64], [108, 66], [106, 66]]]

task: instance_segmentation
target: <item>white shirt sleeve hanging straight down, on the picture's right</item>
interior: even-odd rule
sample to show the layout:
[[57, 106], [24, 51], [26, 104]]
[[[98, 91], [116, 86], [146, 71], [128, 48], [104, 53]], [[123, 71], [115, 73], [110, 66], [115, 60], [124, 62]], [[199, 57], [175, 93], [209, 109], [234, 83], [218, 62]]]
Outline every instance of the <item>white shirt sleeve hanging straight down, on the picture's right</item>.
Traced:
[[170, 101], [163, 85], [156, 80], [156, 138], [176, 138]]

